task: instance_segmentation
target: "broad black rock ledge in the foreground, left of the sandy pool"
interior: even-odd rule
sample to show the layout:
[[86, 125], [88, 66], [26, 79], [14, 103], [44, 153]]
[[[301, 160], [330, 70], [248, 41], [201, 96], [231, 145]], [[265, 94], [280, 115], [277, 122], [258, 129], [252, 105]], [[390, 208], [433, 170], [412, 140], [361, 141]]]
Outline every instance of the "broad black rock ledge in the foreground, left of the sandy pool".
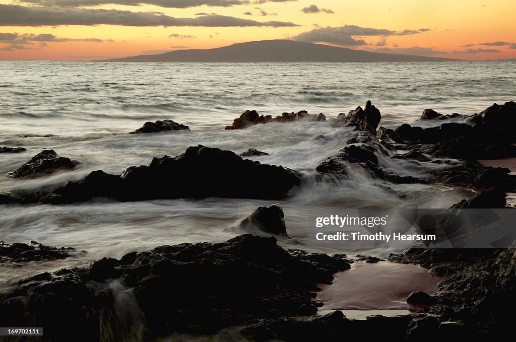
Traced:
[[[247, 234], [223, 243], [161, 246], [122, 260], [102, 259], [87, 269], [46, 273], [4, 289], [0, 321], [44, 326], [49, 340], [67, 340], [78, 329], [85, 329], [84, 340], [99, 340], [99, 327], [111, 327], [116, 321], [110, 317], [123, 314], [116, 311], [108, 281], [119, 279], [124, 289], [132, 289], [124, 292], [124, 298], [134, 296], [132, 313], [144, 317], [144, 327], [134, 327], [135, 332], [146, 332], [142, 340], [174, 333], [213, 334], [285, 316], [314, 315], [317, 284], [331, 282], [333, 274], [344, 269], [349, 262], [343, 258], [291, 253], [273, 237]], [[12, 310], [15, 301], [30, 310]], [[123, 340], [122, 330], [110, 333], [114, 340]]]

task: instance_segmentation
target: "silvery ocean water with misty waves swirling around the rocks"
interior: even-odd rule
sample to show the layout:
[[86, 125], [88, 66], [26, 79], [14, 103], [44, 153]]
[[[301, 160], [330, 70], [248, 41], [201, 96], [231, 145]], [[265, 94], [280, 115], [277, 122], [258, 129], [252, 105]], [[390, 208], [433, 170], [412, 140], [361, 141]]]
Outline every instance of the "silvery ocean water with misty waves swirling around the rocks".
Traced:
[[[0, 146], [27, 149], [0, 154], [0, 192], [52, 189], [93, 170], [120, 174], [133, 165], [148, 165], [153, 157], [179, 155], [192, 145], [236, 153], [256, 148], [269, 155], [252, 159], [295, 169], [308, 180], [280, 201], [292, 237], [279, 238], [280, 245], [380, 257], [409, 245], [351, 250], [317, 245], [309, 218], [319, 213], [338, 214], [343, 208], [446, 208], [468, 194], [440, 184], [390, 184], [394, 191], [387, 191], [381, 181], [359, 169], [351, 180], [317, 182], [315, 167], [345, 145], [351, 134], [348, 128], [335, 129], [325, 122], [269, 123], [236, 131], [225, 131], [224, 126], [247, 109], [272, 116], [308, 110], [332, 118], [371, 100], [382, 113], [380, 125], [395, 127], [415, 121], [426, 108], [471, 115], [495, 102], [513, 101], [516, 89], [516, 61], [0, 61], [0, 69]], [[164, 119], [188, 125], [191, 132], [127, 134], [146, 121]], [[42, 149], [54, 149], [81, 164], [71, 172], [28, 180], [6, 175]], [[401, 159], [380, 162], [397, 174], [421, 176]], [[36, 240], [89, 252], [80, 258], [27, 265], [23, 268], [27, 275], [165, 244], [224, 241], [246, 233], [235, 224], [257, 206], [274, 202], [208, 198], [1, 205], [0, 238], [9, 243]], [[6, 279], [19, 275], [15, 269], [3, 274]]]

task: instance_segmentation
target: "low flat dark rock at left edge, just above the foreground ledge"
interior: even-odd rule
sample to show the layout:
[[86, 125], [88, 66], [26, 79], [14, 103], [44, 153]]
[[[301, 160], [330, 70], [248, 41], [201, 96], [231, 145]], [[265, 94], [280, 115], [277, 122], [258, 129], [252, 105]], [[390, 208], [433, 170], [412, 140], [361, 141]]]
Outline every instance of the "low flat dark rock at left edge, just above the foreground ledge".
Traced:
[[0, 265], [23, 266], [28, 262], [64, 259], [75, 254], [73, 248], [45, 246], [36, 241], [30, 241], [30, 245], [18, 242], [9, 245], [0, 241]]

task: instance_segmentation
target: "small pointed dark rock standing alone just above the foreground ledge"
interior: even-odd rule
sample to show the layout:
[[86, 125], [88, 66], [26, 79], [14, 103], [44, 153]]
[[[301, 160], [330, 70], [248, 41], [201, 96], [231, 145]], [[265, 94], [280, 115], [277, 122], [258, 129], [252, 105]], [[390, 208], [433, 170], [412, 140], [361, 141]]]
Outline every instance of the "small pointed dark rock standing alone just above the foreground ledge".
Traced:
[[278, 203], [254, 210], [250, 216], [240, 222], [241, 228], [245, 229], [248, 226], [256, 226], [264, 232], [288, 237], [283, 208]]

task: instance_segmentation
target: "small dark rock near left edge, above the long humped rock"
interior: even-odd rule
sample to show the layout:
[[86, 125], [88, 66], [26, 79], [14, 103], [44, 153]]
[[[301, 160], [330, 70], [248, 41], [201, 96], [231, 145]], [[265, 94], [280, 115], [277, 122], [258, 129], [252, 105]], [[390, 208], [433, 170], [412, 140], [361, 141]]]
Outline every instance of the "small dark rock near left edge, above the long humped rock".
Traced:
[[58, 156], [54, 150], [44, 150], [9, 174], [14, 178], [40, 176], [58, 170], [71, 170], [78, 164], [77, 160]]

